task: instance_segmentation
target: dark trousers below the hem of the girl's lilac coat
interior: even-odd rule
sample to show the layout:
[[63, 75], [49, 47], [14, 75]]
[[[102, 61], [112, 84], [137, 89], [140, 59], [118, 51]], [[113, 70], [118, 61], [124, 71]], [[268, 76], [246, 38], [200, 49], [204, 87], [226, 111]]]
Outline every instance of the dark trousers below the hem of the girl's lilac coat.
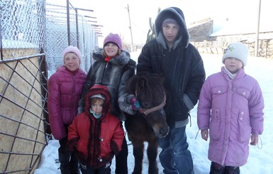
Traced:
[[210, 174], [240, 174], [240, 168], [211, 162]]

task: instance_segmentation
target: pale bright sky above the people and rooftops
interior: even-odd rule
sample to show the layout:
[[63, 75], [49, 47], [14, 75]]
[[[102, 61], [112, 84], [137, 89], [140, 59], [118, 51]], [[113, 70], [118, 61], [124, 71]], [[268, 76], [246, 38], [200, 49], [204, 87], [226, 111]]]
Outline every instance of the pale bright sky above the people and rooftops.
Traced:
[[[52, 4], [62, 4], [66, 6], [66, 0], [46, 0]], [[79, 13], [94, 16], [98, 24], [103, 26], [103, 37], [99, 38], [99, 46], [102, 46], [104, 37], [108, 33], [118, 33], [123, 42], [143, 44], [147, 38], [149, 30], [149, 18], [155, 21], [158, 9], [165, 9], [170, 6], [177, 6], [184, 12], [187, 26], [189, 23], [199, 21], [204, 18], [212, 18], [214, 20], [225, 20], [229, 18], [231, 21], [238, 21], [238, 25], [245, 23], [257, 23], [258, 3], [260, 0], [69, 0], [72, 6], [82, 9], [91, 9], [93, 12], [79, 11]], [[132, 37], [130, 35], [129, 13]], [[272, 0], [261, 0], [260, 18], [267, 18], [273, 6]], [[268, 23], [261, 21], [261, 23]], [[271, 24], [270, 24], [271, 25]], [[236, 26], [234, 26], [236, 27]]]

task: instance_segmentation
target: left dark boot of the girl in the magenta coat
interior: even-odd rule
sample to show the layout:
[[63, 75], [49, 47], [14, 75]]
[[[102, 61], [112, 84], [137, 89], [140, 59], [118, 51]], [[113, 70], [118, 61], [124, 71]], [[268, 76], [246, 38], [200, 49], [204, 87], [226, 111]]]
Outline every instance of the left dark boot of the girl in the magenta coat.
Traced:
[[71, 156], [71, 153], [60, 151], [60, 148], [59, 148], [60, 170], [62, 174], [70, 174], [70, 165], [69, 165], [70, 156]]

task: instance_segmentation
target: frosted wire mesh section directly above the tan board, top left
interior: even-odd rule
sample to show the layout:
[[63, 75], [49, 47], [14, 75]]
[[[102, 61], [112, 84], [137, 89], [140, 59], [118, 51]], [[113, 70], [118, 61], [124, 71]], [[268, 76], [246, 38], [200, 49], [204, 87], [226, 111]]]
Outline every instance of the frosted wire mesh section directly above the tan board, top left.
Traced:
[[[1, 60], [26, 56], [22, 48], [43, 48], [44, 1], [1, 0]], [[3, 49], [6, 50], [5, 54]]]

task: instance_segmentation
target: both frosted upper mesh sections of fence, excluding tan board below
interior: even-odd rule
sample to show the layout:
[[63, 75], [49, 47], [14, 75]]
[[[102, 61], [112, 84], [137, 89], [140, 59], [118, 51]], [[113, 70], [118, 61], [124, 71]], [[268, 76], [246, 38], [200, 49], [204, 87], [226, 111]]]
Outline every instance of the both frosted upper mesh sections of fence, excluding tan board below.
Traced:
[[91, 23], [77, 9], [69, 6], [67, 11], [67, 6], [45, 4], [45, 0], [1, 0], [0, 5], [1, 60], [28, 56], [21, 54], [22, 48], [35, 48], [37, 53], [43, 50], [50, 77], [63, 64], [62, 50], [74, 45], [82, 53], [81, 67], [89, 69], [98, 40]]

